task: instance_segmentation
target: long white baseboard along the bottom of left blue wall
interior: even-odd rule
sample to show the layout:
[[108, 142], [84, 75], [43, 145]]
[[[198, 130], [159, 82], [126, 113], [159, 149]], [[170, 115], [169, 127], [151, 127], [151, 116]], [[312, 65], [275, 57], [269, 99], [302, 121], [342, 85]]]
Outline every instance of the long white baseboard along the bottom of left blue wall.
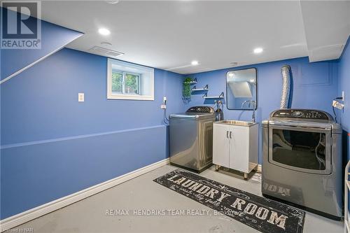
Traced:
[[21, 225], [23, 223], [27, 223], [28, 221], [33, 220], [34, 218], [38, 218], [52, 211], [56, 211], [57, 209], [61, 209], [64, 206], [68, 206], [70, 204], [73, 204], [74, 202], [78, 202], [82, 199], [85, 199], [86, 197], [90, 197], [99, 192], [112, 188], [113, 186], [119, 185], [120, 183], [129, 181], [132, 178], [141, 176], [147, 173], [148, 171], [158, 169], [158, 167], [162, 167], [166, 164], [169, 164], [169, 158], [165, 160], [161, 160], [159, 162], [155, 162], [154, 164], [150, 164], [146, 167], [142, 167], [135, 171], [131, 171], [123, 176], [118, 176], [109, 181], [105, 181], [104, 183], [99, 183], [85, 190], [75, 192], [66, 197], [62, 197], [62, 198], [56, 199], [55, 201], [48, 202], [41, 206], [35, 207], [33, 209], [29, 209], [28, 211], [18, 213], [15, 216], [10, 216], [8, 218], [5, 218], [0, 221], [0, 232], [9, 230], [13, 227], [17, 227], [18, 225]]

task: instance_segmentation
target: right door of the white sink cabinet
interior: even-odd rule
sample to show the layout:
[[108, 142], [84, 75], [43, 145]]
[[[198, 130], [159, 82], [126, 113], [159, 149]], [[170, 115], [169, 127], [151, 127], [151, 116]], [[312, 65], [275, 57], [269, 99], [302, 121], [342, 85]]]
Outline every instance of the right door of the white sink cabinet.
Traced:
[[248, 173], [249, 129], [230, 127], [230, 169]]

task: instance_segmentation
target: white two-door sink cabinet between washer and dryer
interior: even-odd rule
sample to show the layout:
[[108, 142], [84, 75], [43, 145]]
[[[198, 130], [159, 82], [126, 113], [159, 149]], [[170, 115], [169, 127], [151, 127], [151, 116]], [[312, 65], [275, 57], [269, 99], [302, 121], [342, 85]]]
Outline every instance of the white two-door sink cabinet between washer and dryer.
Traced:
[[247, 178], [258, 165], [258, 124], [224, 122], [230, 123], [214, 122], [213, 163], [244, 172]]

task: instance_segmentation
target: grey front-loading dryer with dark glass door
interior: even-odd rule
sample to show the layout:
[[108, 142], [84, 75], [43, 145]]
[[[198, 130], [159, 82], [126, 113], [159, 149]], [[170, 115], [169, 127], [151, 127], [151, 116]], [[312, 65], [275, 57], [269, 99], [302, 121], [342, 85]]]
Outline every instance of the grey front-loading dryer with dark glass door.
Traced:
[[331, 115], [280, 109], [262, 122], [262, 195], [342, 217], [342, 129]]

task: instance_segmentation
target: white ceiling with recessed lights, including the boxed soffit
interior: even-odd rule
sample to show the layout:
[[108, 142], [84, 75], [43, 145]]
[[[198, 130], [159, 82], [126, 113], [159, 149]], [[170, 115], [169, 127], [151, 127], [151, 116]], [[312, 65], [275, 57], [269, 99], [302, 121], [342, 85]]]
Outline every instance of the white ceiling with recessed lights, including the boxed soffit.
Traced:
[[[42, 18], [85, 33], [69, 48], [99, 45], [128, 62], [196, 73], [232, 62], [336, 59], [350, 34], [350, 1], [43, 1]], [[257, 47], [264, 52], [253, 54]]]

